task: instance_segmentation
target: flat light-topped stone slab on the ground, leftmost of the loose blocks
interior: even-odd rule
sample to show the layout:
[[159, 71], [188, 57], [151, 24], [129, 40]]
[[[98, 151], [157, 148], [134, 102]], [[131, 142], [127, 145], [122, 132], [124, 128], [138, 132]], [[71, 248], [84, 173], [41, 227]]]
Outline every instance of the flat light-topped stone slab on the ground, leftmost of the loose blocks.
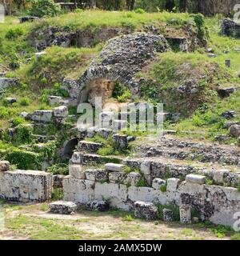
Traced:
[[49, 208], [54, 214], [74, 214], [78, 210], [77, 204], [66, 201], [51, 202]]

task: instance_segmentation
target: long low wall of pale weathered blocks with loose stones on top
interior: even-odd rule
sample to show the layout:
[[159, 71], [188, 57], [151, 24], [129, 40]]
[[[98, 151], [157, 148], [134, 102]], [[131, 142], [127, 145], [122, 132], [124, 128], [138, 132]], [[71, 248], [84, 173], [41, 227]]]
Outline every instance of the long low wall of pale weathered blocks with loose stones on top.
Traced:
[[[134, 203], [175, 204], [197, 210], [202, 220], [232, 226], [234, 214], [240, 212], [238, 189], [206, 185], [206, 177], [188, 174], [179, 178], [152, 178], [149, 166], [142, 168], [149, 175], [150, 185], [142, 186], [142, 174], [124, 171], [124, 165], [108, 163], [105, 170], [85, 170], [78, 164], [70, 165], [70, 175], [63, 179], [64, 200], [87, 202], [106, 200], [121, 210], [134, 210]], [[161, 189], [165, 186], [165, 189]]]

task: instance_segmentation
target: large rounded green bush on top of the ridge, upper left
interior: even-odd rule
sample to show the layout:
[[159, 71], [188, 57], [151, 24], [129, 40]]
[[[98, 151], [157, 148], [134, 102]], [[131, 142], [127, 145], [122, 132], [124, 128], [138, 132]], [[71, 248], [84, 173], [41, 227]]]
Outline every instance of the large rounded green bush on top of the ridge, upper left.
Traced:
[[30, 15], [37, 17], [54, 17], [61, 14], [61, 7], [53, 0], [31, 0], [32, 6], [29, 10]]

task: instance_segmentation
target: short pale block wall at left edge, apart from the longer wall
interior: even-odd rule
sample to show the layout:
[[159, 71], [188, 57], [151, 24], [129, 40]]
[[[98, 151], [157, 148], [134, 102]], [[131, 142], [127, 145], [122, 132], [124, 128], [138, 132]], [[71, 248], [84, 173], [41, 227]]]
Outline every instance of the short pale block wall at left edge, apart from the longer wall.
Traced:
[[53, 175], [38, 170], [5, 171], [0, 178], [0, 197], [16, 202], [44, 202], [51, 198]]

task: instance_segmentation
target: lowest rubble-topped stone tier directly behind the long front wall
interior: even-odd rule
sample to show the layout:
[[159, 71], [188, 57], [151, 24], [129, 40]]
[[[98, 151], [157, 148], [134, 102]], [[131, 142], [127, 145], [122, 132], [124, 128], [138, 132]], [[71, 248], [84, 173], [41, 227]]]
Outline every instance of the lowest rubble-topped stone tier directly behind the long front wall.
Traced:
[[238, 167], [234, 166], [210, 165], [162, 157], [125, 159], [122, 161], [122, 164], [130, 166], [131, 168], [137, 168], [142, 174], [145, 174], [146, 162], [149, 163], [149, 175], [151, 175], [152, 178], [184, 179], [188, 174], [201, 174], [213, 181], [214, 184], [226, 184], [234, 187], [239, 184], [240, 170]]

